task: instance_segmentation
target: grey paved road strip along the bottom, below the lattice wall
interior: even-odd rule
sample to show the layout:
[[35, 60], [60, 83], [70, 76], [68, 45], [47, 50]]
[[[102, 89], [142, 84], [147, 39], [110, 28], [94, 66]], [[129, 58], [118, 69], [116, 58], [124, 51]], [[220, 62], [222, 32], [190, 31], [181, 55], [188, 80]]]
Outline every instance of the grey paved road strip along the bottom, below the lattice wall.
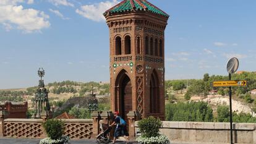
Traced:
[[[0, 138], [0, 144], [37, 144], [40, 139], [30, 139], [30, 138]], [[124, 144], [125, 142], [118, 141], [116, 144]], [[137, 144], [136, 142], [132, 142]], [[70, 144], [96, 144], [96, 140], [70, 140]], [[171, 144], [181, 144], [181, 143], [171, 143]]]

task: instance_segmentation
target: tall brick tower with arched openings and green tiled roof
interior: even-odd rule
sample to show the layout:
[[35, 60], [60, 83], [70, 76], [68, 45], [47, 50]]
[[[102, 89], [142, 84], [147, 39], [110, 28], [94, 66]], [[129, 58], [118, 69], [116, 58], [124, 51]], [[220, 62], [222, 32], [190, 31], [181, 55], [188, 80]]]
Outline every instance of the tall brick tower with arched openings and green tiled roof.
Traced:
[[146, 0], [104, 13], [109, 27], [111, 108], [164, 119], [164, 30], [169, 15]]

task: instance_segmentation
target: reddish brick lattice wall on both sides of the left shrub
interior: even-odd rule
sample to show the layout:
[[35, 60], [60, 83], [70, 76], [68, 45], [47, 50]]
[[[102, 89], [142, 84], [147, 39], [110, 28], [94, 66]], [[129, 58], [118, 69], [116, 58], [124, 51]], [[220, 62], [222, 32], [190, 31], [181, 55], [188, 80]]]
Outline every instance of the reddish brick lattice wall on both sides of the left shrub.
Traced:
[[[62, 119], [65, 123], [65, 135], [70, 138], [91, 138], [92, 119]], [[43, 119], [4, 119], [0, 124], [0, 137], [45, 138]], [[2, 133], [1, 133], [2, 132]]]

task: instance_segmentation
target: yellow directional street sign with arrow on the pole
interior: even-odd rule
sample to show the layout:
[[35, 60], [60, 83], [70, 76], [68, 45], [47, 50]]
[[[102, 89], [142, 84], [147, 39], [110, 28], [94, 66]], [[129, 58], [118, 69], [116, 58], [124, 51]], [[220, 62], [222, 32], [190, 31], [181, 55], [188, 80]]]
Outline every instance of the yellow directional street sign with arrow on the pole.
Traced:
[[247, 80], [225, 80], [213, 82], [213, 87], [246, 87]]

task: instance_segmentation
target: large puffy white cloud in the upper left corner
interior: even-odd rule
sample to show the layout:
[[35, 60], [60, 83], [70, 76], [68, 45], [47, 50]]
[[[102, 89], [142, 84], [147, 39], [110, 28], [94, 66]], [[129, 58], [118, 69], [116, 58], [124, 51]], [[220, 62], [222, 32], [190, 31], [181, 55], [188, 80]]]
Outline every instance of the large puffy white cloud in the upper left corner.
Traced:
[[25, 33], [40, 32], [42, 28], [48, 28], [49, 15], [35, 9], [23, 9], [17, 6], [23, 0], [1, 0], [0, 1], [0, 23], [6, 30], [19, 29]]

